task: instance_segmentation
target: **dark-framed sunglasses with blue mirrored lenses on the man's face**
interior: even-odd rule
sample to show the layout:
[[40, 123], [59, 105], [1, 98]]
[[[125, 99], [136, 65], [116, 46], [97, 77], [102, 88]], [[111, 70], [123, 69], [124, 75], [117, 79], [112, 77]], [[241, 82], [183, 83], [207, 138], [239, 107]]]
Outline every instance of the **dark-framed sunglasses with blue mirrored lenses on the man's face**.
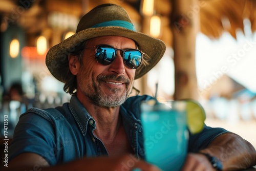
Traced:
[[[143, 52], [138, 49], [116, 49], [110, 45], [98, 45], [93, 46], [91, 48], [95, 48], [95, 58], [98, 63], [108, 66], [110, 65], [116, 58], [116, 51], [123, 51], [122, 57], [124, 65], [127, 68], [136, 69], [140, 66], [142, 61]], [[88, 48], [84, 48], [88, 49]]]

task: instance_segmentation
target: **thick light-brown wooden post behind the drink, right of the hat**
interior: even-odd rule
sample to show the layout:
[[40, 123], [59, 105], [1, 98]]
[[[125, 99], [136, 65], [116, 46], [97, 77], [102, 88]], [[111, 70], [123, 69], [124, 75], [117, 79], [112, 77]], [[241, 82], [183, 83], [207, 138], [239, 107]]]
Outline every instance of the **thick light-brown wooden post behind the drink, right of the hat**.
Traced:
[[199, 31], [198, 0], [172, 0], [171, 28], [175, 65], [174, 99], [198, 99], [196, 35]]

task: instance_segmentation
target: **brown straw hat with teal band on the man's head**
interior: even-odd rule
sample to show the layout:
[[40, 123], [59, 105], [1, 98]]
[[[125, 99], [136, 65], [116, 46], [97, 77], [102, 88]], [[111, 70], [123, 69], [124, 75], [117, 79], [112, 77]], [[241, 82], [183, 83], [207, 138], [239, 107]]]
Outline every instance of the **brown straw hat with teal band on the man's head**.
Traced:
[[48, 51], [46, 55], [48, 69], [55, 78], [66, 83], [71, 75], [68, 54], [84, 40], [108, 35], [133, 39], [137, 43], [138, 49], [149, 57], [148, 65], [140, 65], [136, 69], [135, 79], [150, 71], [165, 52], [166, 46], [162, 40], [135, 30], [130, 16], [122, 7], [114, 4], [103, 4], [95, 7], [80, 19], [73, 36], [63, 40]]

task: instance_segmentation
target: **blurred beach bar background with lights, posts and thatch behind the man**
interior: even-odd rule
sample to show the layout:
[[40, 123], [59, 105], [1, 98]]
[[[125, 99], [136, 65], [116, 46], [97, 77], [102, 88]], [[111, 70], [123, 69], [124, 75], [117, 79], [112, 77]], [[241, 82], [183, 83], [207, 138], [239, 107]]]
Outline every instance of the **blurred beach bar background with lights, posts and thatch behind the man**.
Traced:
[[69, 101], [45, 65], [46, 53], [75, 33], [82, 15], [104, 3], [122, 6], [137, 31], [167, 45], [157, 66], [136, 80], [141, 95], [154, 95], [158, 82], [159, 99], [197, 99], [207, 125], [224, 127], [256, 147], [253, 0], [0, 0], [1, 136], [4, 115], [11, 138], [27, 109]]

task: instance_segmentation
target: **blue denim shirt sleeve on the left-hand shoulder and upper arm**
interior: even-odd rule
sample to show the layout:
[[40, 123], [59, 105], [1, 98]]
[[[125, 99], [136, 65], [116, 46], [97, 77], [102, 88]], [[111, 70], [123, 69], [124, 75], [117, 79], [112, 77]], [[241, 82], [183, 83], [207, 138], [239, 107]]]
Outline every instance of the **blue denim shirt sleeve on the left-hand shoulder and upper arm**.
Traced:
[[9, 161], [22, 153], [42, 156], [50, 165], [56, 163], [53, 125], [45, 118], [26, 113], [20, 116], [9, 147]]

